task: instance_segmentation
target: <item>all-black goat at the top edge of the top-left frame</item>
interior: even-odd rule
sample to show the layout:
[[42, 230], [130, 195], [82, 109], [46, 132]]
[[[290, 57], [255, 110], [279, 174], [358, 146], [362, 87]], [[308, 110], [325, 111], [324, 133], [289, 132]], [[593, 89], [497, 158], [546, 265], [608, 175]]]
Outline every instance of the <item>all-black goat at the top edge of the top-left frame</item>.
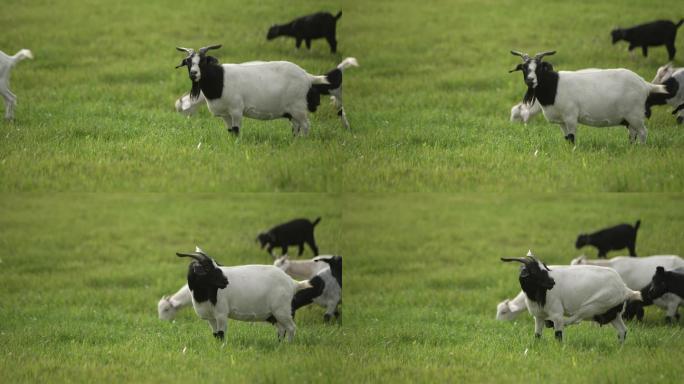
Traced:
[[273, 25], [268, 29], [267, 40], [273, 40], [279, 36], [295, 38], [295, 45], [299, 49], [302, 41], [306, 42], [306, 48], [311, 49], [311, 40], [325, 38], [330, 45], [330, 52], [337, 52], [337, 20], [342, 17], [342, 11], [333, 16], [329, 12], [318, 12], [302, 16], [287, 24]]

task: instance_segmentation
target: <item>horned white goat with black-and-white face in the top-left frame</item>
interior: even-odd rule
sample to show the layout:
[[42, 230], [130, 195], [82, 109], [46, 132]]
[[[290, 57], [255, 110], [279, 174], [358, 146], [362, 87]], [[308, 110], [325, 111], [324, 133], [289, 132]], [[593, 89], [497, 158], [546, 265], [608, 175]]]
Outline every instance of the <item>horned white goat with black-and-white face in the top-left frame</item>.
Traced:
[[176, 68], [188, 67], [192, 99], [201, 92], [209, 111], [223, 118], [226, 129], [236, 136], [243, 116], [258, 120], [287, 118], [293, 134], [308, 134], [308, 112], [315, 112], [320, 104], [320, 94], [313, 86], [330, 84], [325, 76], [311, 75], [289, 61], [219, 64], [207, 51], [220, 47], [212, 45], [197, 52], [176, 48], [188, 55]]

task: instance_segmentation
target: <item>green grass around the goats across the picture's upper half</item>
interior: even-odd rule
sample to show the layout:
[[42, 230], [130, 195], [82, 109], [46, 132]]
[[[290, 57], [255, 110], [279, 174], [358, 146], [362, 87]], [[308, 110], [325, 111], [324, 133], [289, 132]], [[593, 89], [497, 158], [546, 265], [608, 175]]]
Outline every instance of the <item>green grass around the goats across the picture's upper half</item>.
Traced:
[[[609, 31], [671, 18], [674, 0], [6, 3], [0, 47], [28, 47], [36, 59], [13, 74], [16, 122], [0, 123], [5, 191], [684, 189], [684, 131], [668, 108], [648, 121], [646, 145], [630, 145], [624, 128], [580, 127], [573, 151], [543, 118], [508, 122], [525, 88], [508, 74], [519, 60], [510, 49], [556, 49], [558, 69], [622, 66], [650, 80], [665, 49], [632, 58]], [[338, 8], [337, 55], [323, 41], [307, 52], [265, 40], [273, 22]], [[306, 138], [292, 138], [286, 120], [246, 120], [236, 141], [206, 109], [176, 114], [190, 82], [173, 69], [174, 47], [210, 43], [224, 44], [223, 62], [284, 59], [312, 73], [357, 57], [345, 77], [353, 132], [327, 100]]]

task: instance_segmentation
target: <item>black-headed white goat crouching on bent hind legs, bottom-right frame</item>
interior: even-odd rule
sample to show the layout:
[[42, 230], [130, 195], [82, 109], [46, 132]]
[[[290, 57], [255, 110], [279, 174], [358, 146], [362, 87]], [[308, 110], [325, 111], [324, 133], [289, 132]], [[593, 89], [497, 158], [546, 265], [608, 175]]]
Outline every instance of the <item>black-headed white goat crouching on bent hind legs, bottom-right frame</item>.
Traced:
[[625, 341], [627, 328], [621, 316], [624, 304], [630, 299], [640, 300], [641, 293], [627, 288], [615, 270], [591, 265], [551, 270], [532, 252], [528, 252], [527, 258], [501, 260], [523, 264], [520, 287], [534, 316], [536, 337], [541, 337], [547, 320], [553, 322], [559, 341], [566, 325], [593, 320], [601, 325], [610, 323], [618, 332], [618, 340]]

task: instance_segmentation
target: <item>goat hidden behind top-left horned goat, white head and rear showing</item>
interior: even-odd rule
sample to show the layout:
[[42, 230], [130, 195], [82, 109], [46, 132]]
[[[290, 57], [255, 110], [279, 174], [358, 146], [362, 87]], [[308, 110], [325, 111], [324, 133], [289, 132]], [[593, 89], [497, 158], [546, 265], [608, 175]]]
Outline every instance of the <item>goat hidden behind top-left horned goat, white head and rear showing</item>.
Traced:
[[[329, 79], [330, 84], [314, 85], [314, 88], [318, 91], [319, 94], [330, 95], [330, 98], [332, 99], [333, 103], [335, 104], [335, 108], [337, 109], [337, 115], [340, 117], [342, 125], [346, 129], [351, 128], [349, 125], [349, 121], [347, 120], [347, 114], [344, 111], [344, 105], [342, 104], [342, 74], [346, 68], [358, 66], [359, 62], [356, 60], [356, 58], [347, 57], [346, 59], [342, 60], [342, 62], [339, 63], [335, 69], [331, 70], [325, 75]], [[196, 99], [193, 99], [190, 96], [190, 93], [186, 93], [176, 100], [176, 112], [182, 113], [186, 116], [190, 116], [194, 114], [197, 111], [197, 109], [199, 109], [202, 103], [205, 102], [206, 99], [204, 98], [204, 94], [202, 94], [202, 92], [200, 92], [199, 96]]]

